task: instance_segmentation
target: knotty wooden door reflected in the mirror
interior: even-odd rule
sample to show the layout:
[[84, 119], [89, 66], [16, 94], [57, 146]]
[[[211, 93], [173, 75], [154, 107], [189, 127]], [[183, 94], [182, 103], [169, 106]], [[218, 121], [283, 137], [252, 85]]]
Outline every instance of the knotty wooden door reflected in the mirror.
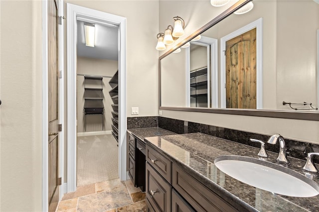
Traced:
[[226, 107], [256, 109], [256, 28], [226, 41]]

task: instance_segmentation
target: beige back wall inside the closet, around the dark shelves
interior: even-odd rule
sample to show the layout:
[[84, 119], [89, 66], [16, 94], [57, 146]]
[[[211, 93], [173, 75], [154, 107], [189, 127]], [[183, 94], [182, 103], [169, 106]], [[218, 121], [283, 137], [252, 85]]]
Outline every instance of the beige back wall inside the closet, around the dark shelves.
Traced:
[[[106, 59], [93, 59], [78, 57], [77, 58], [77, 73], [86, 75], [98, 75], [98, 76], [113, 76], [118, 70], [117, 60]], [[113, 101], [109, 94], [112, 87], [109, 84], [111, 78], [103, 78], [103, 105], [104, 105], [104, 130], [112, 130], [112, 104]], [[90, 83], [88, 81], [88, 83]], [[93, 82], [91, 81], [91, 84]], [[100, 81], [98, 85], [94, 84], [94, 88], [101, 88]], [[89, 87], [89, 86], [87, 86]], [[84, 76], [77, 76], [77, 132], [84, 132]], [[102, 118], [101, 115], [87, 115], [86, 117], [86, 131], [100, 131], [102, 130]]]

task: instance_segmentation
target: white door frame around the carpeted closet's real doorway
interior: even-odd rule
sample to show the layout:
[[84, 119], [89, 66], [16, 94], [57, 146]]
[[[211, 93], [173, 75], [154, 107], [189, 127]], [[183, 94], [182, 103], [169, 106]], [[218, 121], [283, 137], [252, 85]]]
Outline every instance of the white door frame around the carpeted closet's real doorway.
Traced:
[[77, 17], [88, 18], [119, 26], [119, 177], [127, 179], [126, 173], [126, 18], [106, 12], [67, 3], [67, 192], [76, 190], [77, 129], [76, 129], [76, 42]]

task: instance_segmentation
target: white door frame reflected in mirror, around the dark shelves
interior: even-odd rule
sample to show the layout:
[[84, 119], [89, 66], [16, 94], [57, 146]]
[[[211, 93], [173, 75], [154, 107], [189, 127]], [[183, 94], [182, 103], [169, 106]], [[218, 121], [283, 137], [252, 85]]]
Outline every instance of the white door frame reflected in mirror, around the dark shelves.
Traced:
[[[218, 107], [218, 40], [211, 37], [201, 36], [200, 40], [190, 43], [207, 47], [207, 103], [211, 107]], [[186, 49], [186, 106], [190, 106], [190, 47]], [[211, 74], [209, 70], [211, 69]], [[209, 79], [211, 80], [211, 92]], [[211, 93], [211, 94], [210, 94]]]

